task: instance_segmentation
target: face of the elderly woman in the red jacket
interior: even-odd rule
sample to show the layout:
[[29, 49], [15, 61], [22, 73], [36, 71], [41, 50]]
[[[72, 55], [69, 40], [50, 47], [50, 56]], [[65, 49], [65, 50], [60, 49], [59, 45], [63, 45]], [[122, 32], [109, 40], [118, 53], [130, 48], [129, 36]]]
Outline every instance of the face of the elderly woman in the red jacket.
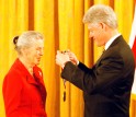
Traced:
[[44, 40], [43, 39], [36, 39], [36, 42], [33, 42], [33, 45], [29, 48], [25, 48], [23, 52], [23, 57], [25, 61], [31, 65], [39, 65], [41, 58], [44, 54]]

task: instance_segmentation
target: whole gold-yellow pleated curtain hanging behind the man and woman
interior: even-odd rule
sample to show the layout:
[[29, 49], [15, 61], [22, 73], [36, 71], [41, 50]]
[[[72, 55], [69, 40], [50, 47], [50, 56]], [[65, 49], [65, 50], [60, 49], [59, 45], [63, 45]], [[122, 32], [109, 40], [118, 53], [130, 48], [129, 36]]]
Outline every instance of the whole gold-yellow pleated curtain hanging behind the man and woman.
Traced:
[[[83, 117], [82, 91], [66, 82], [66, 102], [60, 69], [55, 65], [58, 49], [72, 50], [80, 61], [91, 67], [102, 52], [88, 39], [82, 23], [84, 12], [92, 4], [111, 5], [118, 17], [118, 31], [128, 43], [134, 16], [134, 0], [0, 0], [0, 117], [5, 117], [2, 81], [16, 58], [12, 38], [23, 31], [35, 30], [45, 36], [41, 68], [47, 90], [48, 117]], [[134, 116], [134, 103], [131, 115]]]

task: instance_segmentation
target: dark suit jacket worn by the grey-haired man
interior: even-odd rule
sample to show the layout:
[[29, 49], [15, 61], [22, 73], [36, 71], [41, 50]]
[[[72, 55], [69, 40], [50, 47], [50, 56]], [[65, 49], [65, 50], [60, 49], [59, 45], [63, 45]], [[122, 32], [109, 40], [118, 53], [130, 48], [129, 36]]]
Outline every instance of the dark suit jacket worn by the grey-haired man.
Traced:
[[83, 91], [84, 117], [129, 117], [134, 70], [133, 52], [121, 35], [93, 68], [68, 61], [61, 78]]

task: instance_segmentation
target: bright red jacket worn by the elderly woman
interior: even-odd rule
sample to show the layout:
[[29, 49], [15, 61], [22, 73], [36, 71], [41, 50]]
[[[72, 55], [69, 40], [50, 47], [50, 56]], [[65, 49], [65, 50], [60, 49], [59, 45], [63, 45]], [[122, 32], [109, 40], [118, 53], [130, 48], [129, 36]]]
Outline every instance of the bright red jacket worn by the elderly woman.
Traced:
[[46, 89], [43, 73], [33, 68], [34, 78], [16, 59], [3, 81], [3, 100], [7, 117], [47, 117]]

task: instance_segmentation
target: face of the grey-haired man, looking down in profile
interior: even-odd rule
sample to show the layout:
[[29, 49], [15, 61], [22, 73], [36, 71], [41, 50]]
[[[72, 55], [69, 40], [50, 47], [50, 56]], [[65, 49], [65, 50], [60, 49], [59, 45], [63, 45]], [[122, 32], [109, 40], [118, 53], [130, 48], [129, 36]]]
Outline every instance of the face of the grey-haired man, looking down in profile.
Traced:
[[105, 39], [106, 39], [106, 32], [104, 28], [105, 24], [103, 23], [89, 23], [88, 30], [89, 30], [89, 38], [93, 39], [97, 46], [104, 46]]

